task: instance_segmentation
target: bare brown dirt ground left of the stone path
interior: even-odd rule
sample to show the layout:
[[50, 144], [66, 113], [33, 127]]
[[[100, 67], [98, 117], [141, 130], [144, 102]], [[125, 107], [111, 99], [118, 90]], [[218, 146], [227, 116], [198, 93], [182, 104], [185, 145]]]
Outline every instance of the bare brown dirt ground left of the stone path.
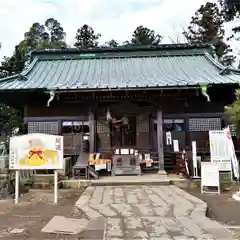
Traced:
[[[59, 204], [53, 204], [53, 192], [34, 190], [20, 198], [20, 204], [14, 205], [12, 200], [0, 201], [0, 238], [19, 239], [81, 239], [80, 236], [60, 234], [44, 234], [41, 229], [53, 216], [73, 218], [83, 217], [74, 209], [75, 202], [83, 192], [81, 190], [61, 190]], [[24, 229], [22, 233], [12, 234], [12, 229]]]

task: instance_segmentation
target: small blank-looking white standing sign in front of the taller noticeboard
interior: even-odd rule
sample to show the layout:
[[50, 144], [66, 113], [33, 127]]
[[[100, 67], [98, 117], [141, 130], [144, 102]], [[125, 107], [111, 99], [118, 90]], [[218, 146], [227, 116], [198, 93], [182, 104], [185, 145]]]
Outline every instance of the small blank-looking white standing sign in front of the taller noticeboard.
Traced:
[[217, 163], [201, 163], [201, 193], [211, 193], [211, 191], [205, 191], [204, 187], [216, 187], [218, 194], [220, 194], [219, 167]]

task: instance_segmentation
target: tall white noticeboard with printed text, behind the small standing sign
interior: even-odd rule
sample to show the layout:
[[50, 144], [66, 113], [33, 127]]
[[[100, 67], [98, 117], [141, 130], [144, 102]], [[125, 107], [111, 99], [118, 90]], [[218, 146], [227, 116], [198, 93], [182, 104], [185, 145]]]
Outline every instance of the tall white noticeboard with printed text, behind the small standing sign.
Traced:
[[232, 171], [229, 146], [225, 130], [209, 131], [211, 162], [219, 166], [219, 171]]

